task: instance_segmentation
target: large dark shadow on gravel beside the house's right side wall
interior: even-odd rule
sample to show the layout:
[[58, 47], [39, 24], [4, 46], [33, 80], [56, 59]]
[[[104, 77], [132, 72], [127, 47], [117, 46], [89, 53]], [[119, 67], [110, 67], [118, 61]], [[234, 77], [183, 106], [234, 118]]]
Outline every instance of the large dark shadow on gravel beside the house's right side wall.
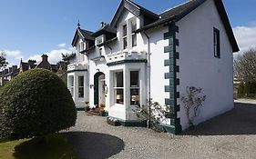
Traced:
[[181, 135], [256, 134], [256, 104], [234, 105], [230, 112], [220, 114]]

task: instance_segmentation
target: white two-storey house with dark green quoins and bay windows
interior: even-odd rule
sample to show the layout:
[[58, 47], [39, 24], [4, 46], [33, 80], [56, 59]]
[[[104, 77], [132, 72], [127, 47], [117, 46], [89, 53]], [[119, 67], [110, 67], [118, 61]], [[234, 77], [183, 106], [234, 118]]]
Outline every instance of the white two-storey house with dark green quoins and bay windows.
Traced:
[[[157, 5], [157, 4], [156, 4]], [[160, 14], [122, 0], [96, 32], [78, 25], [67, 86], [78, 107], [105, 104], [124, 125], [141, 121], [136, 105], [169, 105], [171, 133], [188, 128], [179, 96], [188, 86], [207, 95], [200, 124], [233, 108], [233, 55], [239, 47], [221, 0], [190, 0]]]

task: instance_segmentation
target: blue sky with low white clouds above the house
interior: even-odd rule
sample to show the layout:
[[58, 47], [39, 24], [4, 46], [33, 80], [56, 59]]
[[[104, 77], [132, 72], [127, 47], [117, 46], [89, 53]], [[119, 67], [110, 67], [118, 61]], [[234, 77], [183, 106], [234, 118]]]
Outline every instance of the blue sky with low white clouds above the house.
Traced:
[[[133, 0], [159, 14], [187, 0]], [[243, 51], [256, 47], [256, 0], [222, 0]], [[47, 54], [51, 64], [61, 53], [74, 50], [71, 41], [79, 20], [82, 28], [96, 31], [110, 23], [120, 0], [1, 0], [0, 51], [11, 65]]]

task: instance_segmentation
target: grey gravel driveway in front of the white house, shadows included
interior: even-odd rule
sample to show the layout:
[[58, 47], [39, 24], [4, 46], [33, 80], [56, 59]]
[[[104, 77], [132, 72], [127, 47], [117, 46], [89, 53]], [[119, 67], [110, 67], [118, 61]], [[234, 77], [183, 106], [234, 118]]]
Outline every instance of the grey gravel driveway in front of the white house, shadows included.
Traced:
[[181, 135], [77, 115], [77, 125], [65, 135], [81, 158], [256, 158], [256, 104], [237, 103], [229, 113]]

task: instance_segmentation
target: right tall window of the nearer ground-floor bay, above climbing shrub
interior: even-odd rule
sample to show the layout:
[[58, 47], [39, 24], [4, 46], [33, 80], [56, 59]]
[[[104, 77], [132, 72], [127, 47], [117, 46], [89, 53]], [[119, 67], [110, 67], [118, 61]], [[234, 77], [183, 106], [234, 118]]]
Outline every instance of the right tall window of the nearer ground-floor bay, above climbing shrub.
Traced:
[[130, 72], [130, 104], [139, 104], [138, 71]]

